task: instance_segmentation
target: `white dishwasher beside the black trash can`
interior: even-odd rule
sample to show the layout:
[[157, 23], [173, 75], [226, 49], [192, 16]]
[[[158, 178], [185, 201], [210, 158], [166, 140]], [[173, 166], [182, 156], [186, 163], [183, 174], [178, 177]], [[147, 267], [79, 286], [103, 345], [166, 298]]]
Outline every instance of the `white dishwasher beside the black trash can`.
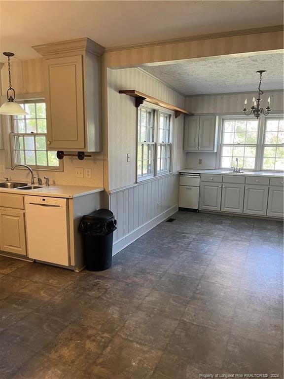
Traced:
[[70, 265], [67, 199], [25, 196], [29, 257]]

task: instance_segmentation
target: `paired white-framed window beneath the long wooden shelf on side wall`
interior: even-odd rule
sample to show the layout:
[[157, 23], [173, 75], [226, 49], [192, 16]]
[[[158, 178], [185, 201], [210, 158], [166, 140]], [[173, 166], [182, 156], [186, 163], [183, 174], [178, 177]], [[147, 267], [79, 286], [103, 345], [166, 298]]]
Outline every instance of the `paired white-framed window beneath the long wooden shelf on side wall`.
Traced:
[[138, 109], [137, 179], [170, 172], [172, 114], [141, 106]]

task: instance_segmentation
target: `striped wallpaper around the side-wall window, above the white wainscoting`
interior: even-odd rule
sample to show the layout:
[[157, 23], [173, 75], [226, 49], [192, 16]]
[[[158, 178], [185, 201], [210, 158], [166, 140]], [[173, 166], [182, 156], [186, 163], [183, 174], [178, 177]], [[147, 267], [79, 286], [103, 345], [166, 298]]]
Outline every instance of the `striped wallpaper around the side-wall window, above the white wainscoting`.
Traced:
[[[137, 108], [134, 99], [120, 89], [137, 89], [147, 95], [184, 108], [184, 97], [137, 69], [107, 70], [108, 175], [109, 189], [136, 182]], [[184, 166], [183, 116], [174, 119], [173, 171]], [[130, 154], [130, 162], [126, 154]]]

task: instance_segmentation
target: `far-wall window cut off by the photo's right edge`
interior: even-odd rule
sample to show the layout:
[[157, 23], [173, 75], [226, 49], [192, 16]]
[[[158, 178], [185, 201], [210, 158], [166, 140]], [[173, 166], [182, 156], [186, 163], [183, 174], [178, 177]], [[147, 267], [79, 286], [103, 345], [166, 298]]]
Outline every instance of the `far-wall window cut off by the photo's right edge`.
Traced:
[[284, 119], [267, 117], [264, 125], [262, 170], [284, 170]]

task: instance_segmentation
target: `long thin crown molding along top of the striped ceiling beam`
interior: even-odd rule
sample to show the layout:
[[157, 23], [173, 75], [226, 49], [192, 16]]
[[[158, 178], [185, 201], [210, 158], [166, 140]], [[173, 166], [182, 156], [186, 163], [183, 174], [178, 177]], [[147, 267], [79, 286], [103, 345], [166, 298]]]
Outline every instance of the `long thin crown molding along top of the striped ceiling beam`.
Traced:
[[243, 29], [243, 30], [235, 30], [235, 31], [230, 31], [230, 32], [203, 34], [203, 35], [194, 36], [194, 37], [164, 39], [164, 40], [148, 42], [148, 43], [109, 47], [105, 49], [105, 53], [109, 53], [113, 51], [121, 51], [121, 50], [141, 49], [143, 47], [153, 47], [153, 46], [168, 45], [168, 44], [174, 44], [174, 43], [192, 42], [192, 41], [198, 41], [198, 40], [203, 40], [203, 39], [236, 37], [236, 36], [245, 36], [249, 34], [260, 34], [260, 33], [283, 32], [283, 30], [284, 30], [283, 25], [276, 25], [276, 26], [268, 26], [264, 28]]

